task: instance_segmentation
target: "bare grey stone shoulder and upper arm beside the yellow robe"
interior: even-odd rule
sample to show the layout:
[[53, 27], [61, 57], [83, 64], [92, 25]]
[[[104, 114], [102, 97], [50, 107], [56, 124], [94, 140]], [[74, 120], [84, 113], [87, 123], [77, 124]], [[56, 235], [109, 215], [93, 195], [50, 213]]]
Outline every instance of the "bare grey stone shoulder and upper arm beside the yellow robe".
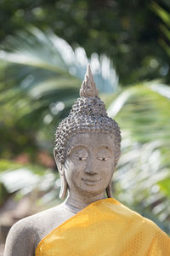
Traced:
[[8, 232], [4, 256], [33, 256], [42, 238], [68, 218], [71, 215], [61, 204], [21, 219]]

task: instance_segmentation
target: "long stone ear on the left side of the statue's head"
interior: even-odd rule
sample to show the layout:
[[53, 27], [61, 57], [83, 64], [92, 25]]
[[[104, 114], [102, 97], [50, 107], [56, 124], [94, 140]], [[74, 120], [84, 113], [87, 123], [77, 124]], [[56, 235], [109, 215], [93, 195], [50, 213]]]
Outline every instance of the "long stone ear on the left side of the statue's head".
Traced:
[[57, 157], [57, 154], [56, 154], [56, 148], [54, 148], [54, 160], [59, 170], [59, 176], [60, 176], [60, 182], [61, 182], [59, 198], [64, 199], [67, 192], [67, 187], [68, 187], [65, 179], [65, 166], [59, 161], [59, 158]]

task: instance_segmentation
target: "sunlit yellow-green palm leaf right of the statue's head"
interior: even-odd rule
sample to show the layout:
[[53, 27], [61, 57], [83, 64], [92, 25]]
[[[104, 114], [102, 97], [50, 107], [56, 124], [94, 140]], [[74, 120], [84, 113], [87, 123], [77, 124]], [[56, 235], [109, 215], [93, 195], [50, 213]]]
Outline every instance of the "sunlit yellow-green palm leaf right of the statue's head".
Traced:
[[157, 216], [157, 223], [167, 232], [170, 229], [169, 99], [168, 86], [144, 83], [120, 92], [115, 101], [110, 99], [108, 108], [122, 129], [122, 157], [114, 177], [116, 196], [146, 216], [150, 209], [152, 215], [148, 217]]

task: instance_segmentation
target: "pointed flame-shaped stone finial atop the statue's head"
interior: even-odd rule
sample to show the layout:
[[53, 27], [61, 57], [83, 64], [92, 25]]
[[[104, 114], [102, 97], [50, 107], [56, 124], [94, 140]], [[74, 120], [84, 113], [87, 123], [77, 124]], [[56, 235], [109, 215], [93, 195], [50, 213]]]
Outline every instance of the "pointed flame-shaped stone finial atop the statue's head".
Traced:
[[82, 88], [80, 89], [81, 97], [95, 97], [99, 95], [99, 90], [96, 88], [94, 77], [91, 72], [90, 65], [88, 64], [85, 79], [82, 82]]

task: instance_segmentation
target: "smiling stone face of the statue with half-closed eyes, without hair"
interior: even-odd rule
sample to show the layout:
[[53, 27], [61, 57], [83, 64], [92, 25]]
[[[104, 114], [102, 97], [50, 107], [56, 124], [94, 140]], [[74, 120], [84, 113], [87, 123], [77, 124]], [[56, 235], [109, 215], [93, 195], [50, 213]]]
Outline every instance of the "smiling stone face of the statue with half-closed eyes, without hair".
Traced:
[[71, 137], [64, 172], [70, 192], [99, 195], [111, 182], [115, 166], [114, 138], [106, 133]]

